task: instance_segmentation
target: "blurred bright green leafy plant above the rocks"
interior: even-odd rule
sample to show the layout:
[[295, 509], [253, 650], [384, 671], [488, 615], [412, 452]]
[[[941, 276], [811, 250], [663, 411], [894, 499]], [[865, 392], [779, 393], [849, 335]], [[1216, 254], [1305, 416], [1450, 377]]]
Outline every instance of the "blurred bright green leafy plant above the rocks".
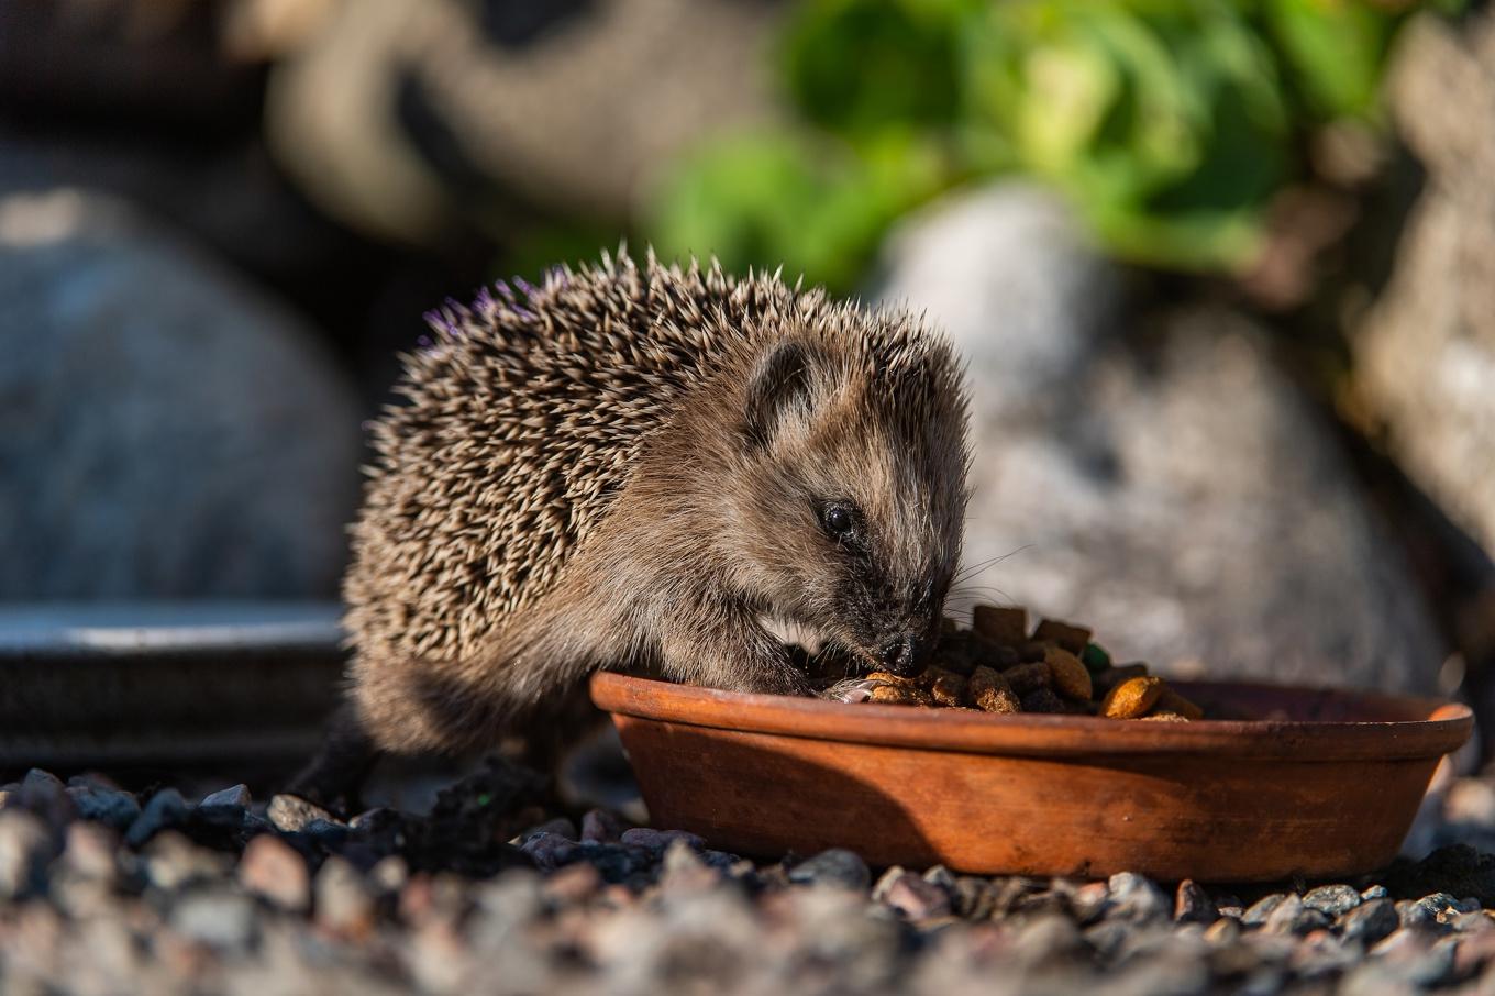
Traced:
[[849, 290], [901, 214], [1021, 173], [1117, 256], [1238, 269], [1305, 135], [1378, 121], [1404, 16], [1354, 0], [810, 0], [776, 61], [798, 126], [686, 157], [650, 235]]

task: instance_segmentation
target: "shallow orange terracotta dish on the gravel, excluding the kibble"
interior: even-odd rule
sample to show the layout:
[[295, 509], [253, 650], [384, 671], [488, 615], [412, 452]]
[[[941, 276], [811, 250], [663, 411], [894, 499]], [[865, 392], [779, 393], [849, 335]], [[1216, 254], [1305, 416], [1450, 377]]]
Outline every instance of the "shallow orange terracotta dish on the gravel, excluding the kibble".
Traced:
[[1163, 881], [1354, 875], [1390, 861], [1465, 706], [1177, 682], [1187, 724], [988, 716], [592, 679], [650, 820], [779, 857]]

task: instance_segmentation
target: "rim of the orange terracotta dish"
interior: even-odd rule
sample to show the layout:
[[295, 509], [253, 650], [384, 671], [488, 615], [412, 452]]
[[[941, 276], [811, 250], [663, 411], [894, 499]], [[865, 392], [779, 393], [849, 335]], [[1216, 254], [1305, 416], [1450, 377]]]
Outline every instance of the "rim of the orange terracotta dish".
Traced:
[[1354, 697], [1425, 713], [1426, 719], [1199, 719], [1121, 722], [1096, 716], [946, 712], [825, 701], [797, 695], [731, 692], [617, 671], [592, 676], [592, 701], [610, 713], [667, 724], [776, 734], [806, 740], [1000, 754], [1012, 757], [1220, 755], [1251, 760], [1348, 761], [1432, 758], [1456, 751], [1474, 728], [1462, 703], [1348, 688], [1269, 682], [1171, 682], [1180, 691], [1229, 689]]

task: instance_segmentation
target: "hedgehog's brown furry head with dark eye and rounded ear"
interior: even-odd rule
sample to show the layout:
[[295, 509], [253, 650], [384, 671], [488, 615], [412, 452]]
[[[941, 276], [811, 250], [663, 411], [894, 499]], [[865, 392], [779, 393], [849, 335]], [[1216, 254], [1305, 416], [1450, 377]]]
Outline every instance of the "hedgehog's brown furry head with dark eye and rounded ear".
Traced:
[[728, 562], [782, 640], [896, 673], [927, 660], [966, 501], [946, 362], [933, 351], [867, 369], [791, 342], [753, 378]]

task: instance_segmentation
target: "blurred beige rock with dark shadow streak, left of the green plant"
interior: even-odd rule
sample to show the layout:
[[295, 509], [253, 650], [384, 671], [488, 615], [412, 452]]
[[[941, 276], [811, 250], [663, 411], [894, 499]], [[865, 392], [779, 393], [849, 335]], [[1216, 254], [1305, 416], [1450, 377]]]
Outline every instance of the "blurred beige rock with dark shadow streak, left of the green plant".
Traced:
[[770, 114], [780, 7], [341, 3], [274, 69], [266, 129], [312, 200], [380, 236], [507, 238], [520, 203], [619, 221], [686, 145]]

